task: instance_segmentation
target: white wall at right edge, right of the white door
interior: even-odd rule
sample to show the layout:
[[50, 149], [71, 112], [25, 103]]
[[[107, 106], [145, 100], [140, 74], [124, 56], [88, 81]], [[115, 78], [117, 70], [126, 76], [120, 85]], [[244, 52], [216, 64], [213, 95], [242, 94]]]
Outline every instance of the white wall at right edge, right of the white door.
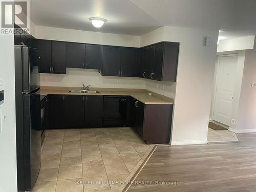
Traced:
[[246, 52], [242, 89], [237, 117], [237, 133], [256, 132], [256, 88], [251, 83], [256, 82], [256, 53]]

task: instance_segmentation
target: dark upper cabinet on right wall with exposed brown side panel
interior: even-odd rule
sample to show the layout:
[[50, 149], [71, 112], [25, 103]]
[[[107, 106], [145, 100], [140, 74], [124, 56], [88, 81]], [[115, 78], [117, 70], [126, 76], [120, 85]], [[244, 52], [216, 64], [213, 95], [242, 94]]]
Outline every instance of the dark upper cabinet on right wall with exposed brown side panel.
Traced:
[[142, 48], [141, 77], [176, 81], [179, 43], [161, 42]]

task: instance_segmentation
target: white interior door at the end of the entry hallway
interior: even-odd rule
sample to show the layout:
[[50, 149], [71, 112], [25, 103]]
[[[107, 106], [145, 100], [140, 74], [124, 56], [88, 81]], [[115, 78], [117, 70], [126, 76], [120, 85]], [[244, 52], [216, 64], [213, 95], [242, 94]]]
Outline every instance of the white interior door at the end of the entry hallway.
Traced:
[[238, 56], [220, 56], [213, 119], [230, 124]]

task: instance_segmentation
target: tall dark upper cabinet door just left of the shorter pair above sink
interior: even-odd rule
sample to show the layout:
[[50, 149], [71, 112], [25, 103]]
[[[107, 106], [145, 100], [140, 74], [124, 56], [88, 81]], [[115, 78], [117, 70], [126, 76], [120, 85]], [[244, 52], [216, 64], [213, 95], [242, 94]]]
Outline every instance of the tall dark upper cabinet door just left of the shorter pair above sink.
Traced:
[[66, 42], [52, 41], [52, 73], [66, 74]]

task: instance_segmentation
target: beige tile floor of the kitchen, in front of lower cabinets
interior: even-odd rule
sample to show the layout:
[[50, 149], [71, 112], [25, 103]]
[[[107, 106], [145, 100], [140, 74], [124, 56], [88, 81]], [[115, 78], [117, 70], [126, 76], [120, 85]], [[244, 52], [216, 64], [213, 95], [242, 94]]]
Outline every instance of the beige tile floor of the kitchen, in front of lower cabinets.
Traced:
[[149, 150], [130, 127], [49, 130], [33, 192], [115, 191]]

